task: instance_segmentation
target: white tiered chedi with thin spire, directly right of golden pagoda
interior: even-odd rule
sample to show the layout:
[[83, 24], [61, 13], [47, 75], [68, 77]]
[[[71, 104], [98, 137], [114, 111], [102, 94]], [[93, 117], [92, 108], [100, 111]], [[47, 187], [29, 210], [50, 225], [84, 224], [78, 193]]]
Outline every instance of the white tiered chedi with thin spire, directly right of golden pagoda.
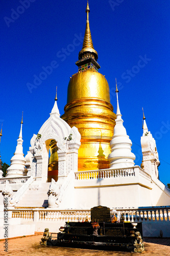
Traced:
[[[116, 95], [118, 93], [116, 86]], [[117, 112], [116, 125], [114, 127], [114, 135], [110, 141], [111, 153], [108, 156], [110, 168], [128, 168], [134, 166], [135, 155], [131, 152], [132, 141], [127, 135], [123, 125], [122, 115], [120, 113], [117, 95]]]

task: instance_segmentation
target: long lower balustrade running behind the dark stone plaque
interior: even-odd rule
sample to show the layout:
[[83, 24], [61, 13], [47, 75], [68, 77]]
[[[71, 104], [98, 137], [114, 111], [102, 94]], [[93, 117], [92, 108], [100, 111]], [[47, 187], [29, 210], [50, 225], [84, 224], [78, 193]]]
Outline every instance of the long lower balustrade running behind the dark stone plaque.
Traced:
[[[90, 210], [53, 210], [53, 209], [16, 209], [12, 210], [12, 218], [21, 218], [22, 220], [33, 221], [34, 216], [38, 214], [38, 221], [72, 221], [82, 222], [86, 218], [91, 221]], [[170, 222], [170, 206], [153, 207], [142, 209], [123, 209], [111, 210], [112, 215], [123, 215], [125, 221], [139, 221], [139, 222]]]

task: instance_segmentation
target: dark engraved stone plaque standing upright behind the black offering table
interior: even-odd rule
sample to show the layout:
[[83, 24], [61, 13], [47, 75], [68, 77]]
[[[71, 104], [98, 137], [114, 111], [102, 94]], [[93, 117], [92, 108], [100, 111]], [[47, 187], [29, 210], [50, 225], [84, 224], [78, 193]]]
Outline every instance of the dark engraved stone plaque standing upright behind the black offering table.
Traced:
[[110, 222], [110, 208], [101, 205], [91, 208], [91, 221]]

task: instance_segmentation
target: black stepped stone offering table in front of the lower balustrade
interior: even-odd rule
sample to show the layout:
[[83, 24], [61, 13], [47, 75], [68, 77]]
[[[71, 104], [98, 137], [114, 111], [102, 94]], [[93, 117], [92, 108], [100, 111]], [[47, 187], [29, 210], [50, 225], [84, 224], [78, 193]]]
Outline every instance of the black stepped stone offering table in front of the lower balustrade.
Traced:
[[66, 222], [57, 240], [49, 239], [47, 245], [97, 250], [130, 250], [142, 252], [142, 223], [134, 229], [131, 223], [99, 222], [98, 235], [93, 235], [94, 223]]

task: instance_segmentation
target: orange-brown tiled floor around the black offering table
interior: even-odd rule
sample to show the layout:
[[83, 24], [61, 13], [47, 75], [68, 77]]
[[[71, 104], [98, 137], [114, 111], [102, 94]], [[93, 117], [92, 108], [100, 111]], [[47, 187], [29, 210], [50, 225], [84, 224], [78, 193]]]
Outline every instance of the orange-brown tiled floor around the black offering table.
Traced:
[[[43, 234], [43, 233], [42, 233]], [[99, 251], [99, 250], [85, 250], [75, 248], [61, 248], [61, 247], [46, 247], [40, 245], [42, 234], [35, 234], [34, 236], [14, 238], [8, 240], [8, 252], [4, 251], [4, 240], [0, 241], [0, 255], [25, 255], [25, 256], [107, 256], [107, 255], [138, 255], [135, 252], [119, 252], [119, 251]], [[141, 254], [170, 256], [170, 239], [159, 238], [145, 238], [145, 251]]]

